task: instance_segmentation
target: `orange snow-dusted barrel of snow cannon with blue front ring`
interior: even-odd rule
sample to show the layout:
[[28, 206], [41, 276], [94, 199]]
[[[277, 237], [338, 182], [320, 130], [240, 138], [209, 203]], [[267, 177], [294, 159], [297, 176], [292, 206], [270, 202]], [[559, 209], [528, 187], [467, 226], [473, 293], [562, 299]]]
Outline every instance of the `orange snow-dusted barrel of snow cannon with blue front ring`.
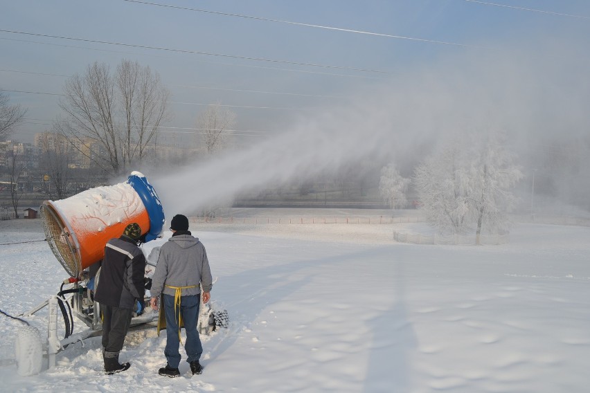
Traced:
[[72, 277], [105, 255], [107, 241], [120, 237], [129, 223], [138, 223], [145, 241], [161, 235], [164, 213], [160, 200], [140, 172], [125, 183], [91, 188], [40, 207], [47, 242]]

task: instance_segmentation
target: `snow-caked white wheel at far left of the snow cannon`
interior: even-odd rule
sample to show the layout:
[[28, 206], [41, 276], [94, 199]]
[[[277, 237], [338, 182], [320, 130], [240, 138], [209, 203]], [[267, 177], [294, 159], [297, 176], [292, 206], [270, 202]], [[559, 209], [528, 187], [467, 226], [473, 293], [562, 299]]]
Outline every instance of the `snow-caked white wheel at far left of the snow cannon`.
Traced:
[[20, 376], [30, 376], [41, 372], [43, 345], [39, 331], [32, 326], [19, 329], [15, 342], [15, 355]]

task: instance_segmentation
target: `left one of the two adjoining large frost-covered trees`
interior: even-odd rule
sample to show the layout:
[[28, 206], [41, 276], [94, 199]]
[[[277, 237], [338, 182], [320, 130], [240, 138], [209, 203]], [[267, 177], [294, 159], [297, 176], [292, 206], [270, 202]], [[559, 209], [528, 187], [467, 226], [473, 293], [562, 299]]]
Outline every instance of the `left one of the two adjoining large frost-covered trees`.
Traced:
[[467, 157], [457, 145], [424, 160], [414, 172], [420, 208], [439, 233], [463, 233], [470, 216]]

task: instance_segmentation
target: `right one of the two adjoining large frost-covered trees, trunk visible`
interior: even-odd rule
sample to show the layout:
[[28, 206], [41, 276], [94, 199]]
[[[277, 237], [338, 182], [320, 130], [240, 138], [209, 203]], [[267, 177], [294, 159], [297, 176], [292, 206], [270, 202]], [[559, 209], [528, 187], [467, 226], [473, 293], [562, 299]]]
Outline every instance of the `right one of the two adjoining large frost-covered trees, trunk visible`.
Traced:
[[507, 212], [512, 210], [515, 197], [510, 192], [523, 174], [512, 163], [513, 155], [506, 147], [503, 134], [491, 135], [481, 147], [471, 167], [472, 197], [470, 204], [476, 221], [476, 244], [480, 244], [482, 228], [491, 232], [507, 230]]

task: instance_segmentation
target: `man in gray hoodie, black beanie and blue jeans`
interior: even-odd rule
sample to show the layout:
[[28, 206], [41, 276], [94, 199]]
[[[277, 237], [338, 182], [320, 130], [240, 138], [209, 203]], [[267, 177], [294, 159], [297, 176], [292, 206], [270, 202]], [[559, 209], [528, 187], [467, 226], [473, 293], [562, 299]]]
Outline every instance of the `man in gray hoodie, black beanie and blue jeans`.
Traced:
[[205, 247], [188, 230], [188, 218], [177, 214], [170, 223], [172, 237], [160, 248], [156, 271], [152, 277], [150, 293], [152, 309], [158, 309], [158, 298], [162, 295], [161, 307], [166, 316], [166, 348], [164, 355], [168, 364], [159, 369], [163, 376], [180, 376], [180, 320], [186, 330], [186, 361], [190, 371], [201, 374], [203, 367], [199, 358], [203, 353], [201, 339], [197, 331], [199, 301], [203, 290], [203, 303], [211, 298], [213, 286], [211, 268]]

